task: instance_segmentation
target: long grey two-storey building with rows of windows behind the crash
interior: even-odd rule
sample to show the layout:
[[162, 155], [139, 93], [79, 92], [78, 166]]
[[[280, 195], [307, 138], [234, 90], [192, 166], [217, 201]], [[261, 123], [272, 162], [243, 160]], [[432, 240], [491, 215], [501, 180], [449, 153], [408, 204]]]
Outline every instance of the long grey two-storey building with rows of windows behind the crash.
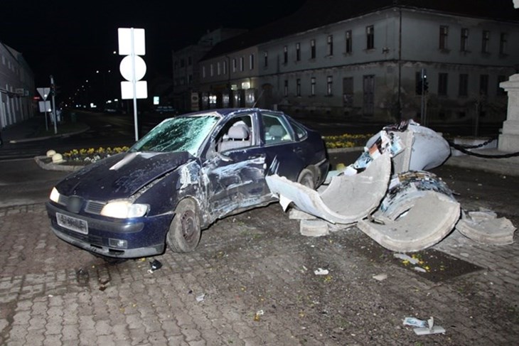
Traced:
[[[237, 91], [250, 95], [249, 102], [230, 105], [256, 103], [289, 114], [422, 123], [470, 121], [476, 114], [482, 121], [505, 119], [506, 96], [499, 83], [519, 67], [515, 13], [496, 18], [499, 13], [487, 15], [483, 9], [462, 13], [398, 4], [419, 1], [368, 2], [371, 8], [345, 12], [343, 19], [339, 13], [329, 23], [309, 21], [296, 32], [251, 40], [249, 47], [245, 42], [216, 47], [200, 62], [200, 94], [213, 100], [203, 107], [225, 106]], [[309, 3], [322, 8], [348, 1]], [[509, 7], [515, 11], [511, 2]], [[298, 16], [299, 22], [311, 16], [309, 6], [285, 25]], [[235, 59], [244, 61], [243, 70], [232, 68]], [[225, 61], [231, 64], [227, 74], [214, 73]]]

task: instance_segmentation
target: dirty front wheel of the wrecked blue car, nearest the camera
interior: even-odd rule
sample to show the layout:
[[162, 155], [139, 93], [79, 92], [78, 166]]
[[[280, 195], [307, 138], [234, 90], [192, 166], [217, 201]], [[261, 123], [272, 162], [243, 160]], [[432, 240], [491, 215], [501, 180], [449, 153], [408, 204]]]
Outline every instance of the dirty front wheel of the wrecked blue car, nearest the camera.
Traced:
[[200, 213], [195, 200], [181, 200], [175, 209], [173, 221], [166, 236], [168, 247], [173, 252], [192, 252], [200, 242]]

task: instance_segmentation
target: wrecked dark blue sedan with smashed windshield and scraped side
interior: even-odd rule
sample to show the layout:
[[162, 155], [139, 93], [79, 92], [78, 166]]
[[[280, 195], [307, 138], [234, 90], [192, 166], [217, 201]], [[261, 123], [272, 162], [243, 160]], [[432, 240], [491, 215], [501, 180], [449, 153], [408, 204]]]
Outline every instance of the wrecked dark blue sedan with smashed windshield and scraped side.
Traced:
[[213, 109], [162, 121], [126, 153], [68, 175], [46, 203], [53, 232], [105, 257], [191, 252], [215, 220], [277, 201], [277, 174], [317, 188], [321, 136], [282, 112]]

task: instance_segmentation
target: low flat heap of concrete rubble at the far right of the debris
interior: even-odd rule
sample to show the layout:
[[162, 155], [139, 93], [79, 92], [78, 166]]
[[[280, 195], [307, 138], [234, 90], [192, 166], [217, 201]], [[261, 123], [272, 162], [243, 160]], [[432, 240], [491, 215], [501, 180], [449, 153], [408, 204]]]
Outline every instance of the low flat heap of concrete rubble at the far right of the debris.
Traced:
[[486, 245], [513, 244], [517, 229], [506, 217], [497, 217], [496, 212], [480, 210], [466, 212], [456, 224], [456, 229], [474, 242]]

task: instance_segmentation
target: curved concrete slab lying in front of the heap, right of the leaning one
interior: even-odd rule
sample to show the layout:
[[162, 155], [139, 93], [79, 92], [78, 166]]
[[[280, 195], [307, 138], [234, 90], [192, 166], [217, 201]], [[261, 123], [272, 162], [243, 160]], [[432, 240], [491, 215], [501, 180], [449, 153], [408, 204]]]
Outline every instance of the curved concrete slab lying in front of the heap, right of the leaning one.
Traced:
[[408, 202], [406, 212], [393, 219], [385, 217], [383, 225], [362, 220], [357, 227], [382, 247], [397, 252], [417, 252], [444, 239], [459, 220], [459, 202], [442, 193], [426, 191]]

